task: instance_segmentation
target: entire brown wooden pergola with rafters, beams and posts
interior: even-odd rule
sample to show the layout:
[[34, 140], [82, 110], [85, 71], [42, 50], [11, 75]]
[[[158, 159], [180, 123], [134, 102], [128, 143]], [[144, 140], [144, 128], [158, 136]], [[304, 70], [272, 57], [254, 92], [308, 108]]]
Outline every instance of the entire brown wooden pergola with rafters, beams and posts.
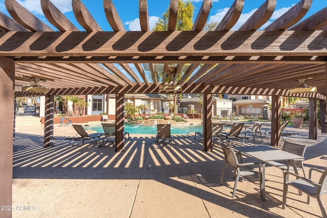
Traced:
[[[191, 31], [175, 31], [178, 1], [171, 0], [168, 31], [162, 32], [149, 31], [146, 0], [139, 1], [142, 31], [133, 32], [125, 30], [112, 1], [103, 1], [110, 32], [102, 31], [80, 0], [72, 5], [85, 31], [79, 31], [49, 0], [40, 1], [46, 19], [57, 30], [14, 0], [5, 0], [11, 17], [0, 12], [1, 205], [11, 204], [15, 96], [45, 95], [44, 147], [53, 144], [56, 94], [116, 94], [117, 152], [124, 150], [125, 93], [203, 93], [204, 151], [211, 150], [215, 93], [272, 95], [273, 146], [281, 139], [281, 96], [310, 98], [309, 138], [317, 138], [318, 101], [324, 111], [320, 120], [325, 122], [327, 8], [300, 21], [312, 0], [299, 1], [263, 31], [258, 30], [274, 12], [275, 0], [267, 0], [237, 31], [230, 30], [241, 15], [244, 0], [231, 5], [215, 31], [203, 31], [213, 4], [210, 0], [203, 1]], [[155, 63], [164, 65], [161, 80], [156, 78]], [[169, 67], [171, 63], [176, 66]], [[149, 67], [151, 79], [142, 64]], [[318, 92], [290, 94], [289, 89], [302, 79]], [[33, 80], [49, 91], [22, 92], [21, 87]], [[321, 130], [325, 132], [324, 125]]]

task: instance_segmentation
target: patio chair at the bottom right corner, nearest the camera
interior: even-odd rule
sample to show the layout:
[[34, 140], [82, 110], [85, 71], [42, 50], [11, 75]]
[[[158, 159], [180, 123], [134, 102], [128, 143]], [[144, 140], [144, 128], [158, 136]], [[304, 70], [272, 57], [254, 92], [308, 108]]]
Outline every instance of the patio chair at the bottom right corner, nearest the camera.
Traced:
[[[321, 173], [321, 177], [319, 179], [319, 182], [313, 182], [311, 179], [312, 172], [318, 172]], [[289, 175], [296, 176], [296, 180], [288, 180]], [[324, 171], [317, 168], [310, 168], [309, 169], [309, 178], [301, 177], [297, 174], [294, 174], [292, 172], [284, 172], [284, 188], [283, 188], [283, 203], [282, 208], [286, 209], [286, 195], [288, 192], [288, 186], [291, 185], [294, 188], [297, 188], [299, 192], [305, 192], [308, 195], [307, 204], [310, 204], [310, 197], [316, 198], [322, 213], [323, 218], [327, 218], [325, 207], [322, 204], [321, 201], [321, 195], [327, 193], [327, 169]], [[295, 199], [293, 199], [295, 200]], [[292, 204], [292, 207], [294, 207], [296, 204]]]

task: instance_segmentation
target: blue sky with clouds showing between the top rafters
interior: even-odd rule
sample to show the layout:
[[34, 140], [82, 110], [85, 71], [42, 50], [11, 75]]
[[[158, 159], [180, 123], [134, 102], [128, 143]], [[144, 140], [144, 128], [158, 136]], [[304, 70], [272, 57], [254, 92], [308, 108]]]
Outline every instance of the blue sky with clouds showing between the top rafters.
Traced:
[[[44, 17], [43, 12], [41, 10], [40, 1], [39, 0], [16, 0], [22, 6], [27, 8], [33, 14], [35, 14], [38, 18], [47, 23], [50, 27], [57, 31]], [[233, 4], [235, 0], [213, 0], [213, 8], [209, 14], [209, 21], [217, 21], [219, 22], [225, 13], [228, 11], [229, 7]], [[245, 0], [244, 8], [242, 15], [240, 17], [239, 22], [233, 28], [233, 30], [237, 30], [242, 23], [249, 17], [251, 14], [258, 9], [266, 0]], [[271, 19], [266, 23], [265, 26], [268, 26], [270, 22], [272, 22], [276, 17], [284, 14], [287, 10], [289, 10], [293, 5], [297, 4], [300, 0], [278, 0], [275, 12]], [[66, 17], [69, 18], [80, 30], [83, 28], [76, 21], [74, 13], [72, 11], [72, 4], [69, 0], [51, 0], [51, 2], [59, 8], [61, 12], [64, 13]], [[193, 2], [195, 9], [194, 19], [196, 18], [199, 9], [201, 8], [203, 0], [191, 0]], [[86, 8], [89, 10], [91, 15], [96, 19], [101, 28], [104, 31], [112, 31], [109, 23], [106, 20], [104, 10], [103, 10], [103, 1], [102, 0], [84, 0], [83, 1]], [[139, 20], [138, 20], [138, 1], [137, 0], [113, 0], [113, 4], [118, 11], [126, 30], [130, 31], [138, 31]], [[148, 9], [149, 9], [149, 25], [150, 29], [155, 25], [155, 22], [158, 18], [162, 17], [162, 14], [169, 8], [170, 0], [148, 0]], [[311, 9], [305, 16], [305, 18], [314, 14], [315, 12], [321, 10], [322, 8], [327, 7], [326, 0], [313, 0]], [[7, 13], [4, 0], [0, 0], [0, 11]], [[305, 19], [303, 18], [303, 19]], [[264, 28], [264, 27], [263, 27]]]

